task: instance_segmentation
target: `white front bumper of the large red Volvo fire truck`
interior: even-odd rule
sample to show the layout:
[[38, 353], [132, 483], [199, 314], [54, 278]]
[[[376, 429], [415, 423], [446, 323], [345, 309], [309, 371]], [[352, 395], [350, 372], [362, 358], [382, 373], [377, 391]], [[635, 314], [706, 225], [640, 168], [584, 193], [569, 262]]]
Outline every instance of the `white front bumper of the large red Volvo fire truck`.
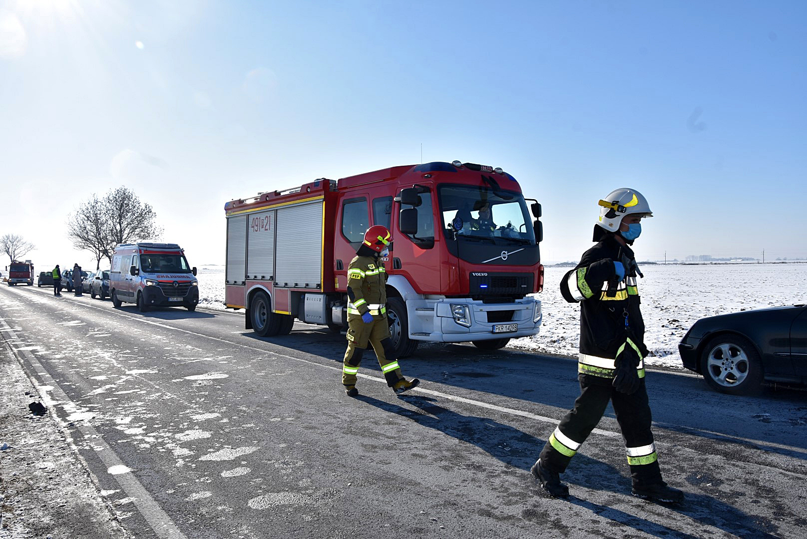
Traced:
[[[458, 305], [467, 307], [468, 317], [464, 324], [458, 324], [452, 314], [452, 309]], [[541, 302], [530, 297], [514, 303], [483, 303], [467, 298], [411, 299], [407, 301], [407, 314], [409, 338], [433, 342], [488, 341], [537, 335], [543, 319]], [[493, 332], [495, 326], [503, 324], [515, 324], [516, 331]]]

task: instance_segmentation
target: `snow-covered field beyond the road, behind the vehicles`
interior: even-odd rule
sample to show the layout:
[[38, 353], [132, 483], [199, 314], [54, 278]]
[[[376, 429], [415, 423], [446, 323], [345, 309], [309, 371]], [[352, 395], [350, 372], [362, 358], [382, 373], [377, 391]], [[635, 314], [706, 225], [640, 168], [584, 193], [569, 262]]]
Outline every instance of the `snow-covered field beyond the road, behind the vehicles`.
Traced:
[[[579, 306], [560, 295], [559, 283], [569, 267], [546, 268], [541, 299], [544, 320], [536, 336], [509, 346], [573, 356], [579, 341]], [[696, 320], [727, 312], [776, 307], [807, 301], [807, 264], [644, 265], [639, 279], [646, 364], [680, 367], [678, 343]], [[199, 304], [224, 309], [224, 266], [199, 271]]]

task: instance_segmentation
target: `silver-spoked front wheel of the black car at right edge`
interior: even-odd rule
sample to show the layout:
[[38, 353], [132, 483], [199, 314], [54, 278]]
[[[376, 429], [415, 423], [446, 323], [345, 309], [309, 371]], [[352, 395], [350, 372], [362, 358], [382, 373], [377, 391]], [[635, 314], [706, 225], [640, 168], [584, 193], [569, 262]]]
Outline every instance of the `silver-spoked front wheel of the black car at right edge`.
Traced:
[[755, 395], [762, 389], [762, 361], [751, 341], [738, 335], [718, 335], [706, 343], [700, 372], [715, 391]]

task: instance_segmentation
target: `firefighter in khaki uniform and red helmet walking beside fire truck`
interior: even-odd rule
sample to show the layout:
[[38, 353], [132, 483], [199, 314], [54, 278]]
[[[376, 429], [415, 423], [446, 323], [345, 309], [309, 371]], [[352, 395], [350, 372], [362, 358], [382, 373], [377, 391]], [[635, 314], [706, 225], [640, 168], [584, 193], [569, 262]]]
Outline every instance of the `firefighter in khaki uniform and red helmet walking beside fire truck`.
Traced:
[[364, 233], [364, 241], [348, 268], [348, 349], [342, 366], [342, 385], [351, 397], [358, 395], [356, 373], [368, 341], [373, 345], [378, 365], [395, 393], [417, 386], [420, 380], [403, 378], [392, 353], [387, 322], [387, 272], [380, 257], [387, 257], [390, 231], [376, 224]]

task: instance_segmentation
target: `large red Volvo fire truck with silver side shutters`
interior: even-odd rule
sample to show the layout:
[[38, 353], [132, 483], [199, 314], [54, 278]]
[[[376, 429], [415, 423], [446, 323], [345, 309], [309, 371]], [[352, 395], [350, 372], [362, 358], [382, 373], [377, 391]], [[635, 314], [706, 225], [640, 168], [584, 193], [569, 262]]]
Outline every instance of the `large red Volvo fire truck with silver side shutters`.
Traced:
[[[528, 205], [529, 202], [529, 205]], [[395, 354], [420, 341], [500, 349], [541, 326], [541, 204], [500, 168], [454, 161], [320, 178], [224, 205], [226, 307], [259, 336], [294, 320], [347, 324], [347, 270], [364, 232], [392, 232], [387, 317]]]

